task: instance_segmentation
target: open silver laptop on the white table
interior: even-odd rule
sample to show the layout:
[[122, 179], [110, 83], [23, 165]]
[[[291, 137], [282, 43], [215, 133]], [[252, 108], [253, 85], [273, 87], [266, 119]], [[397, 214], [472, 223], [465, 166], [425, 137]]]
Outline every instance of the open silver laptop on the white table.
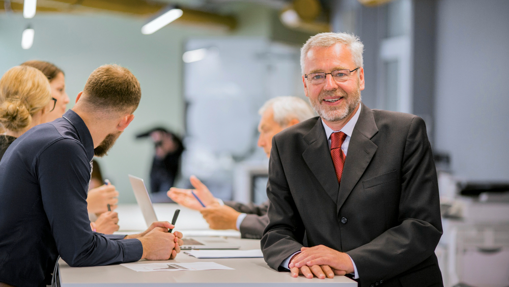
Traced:
[[[138, 202], [139, 208], [142, 210], [143, 217], [145, 218], [145, 222], [147, 226], [150, 226], [152, 222], [158, 221], [156, 213], [154, 211], [154, 206], [152, 205], [152, 201], [149, 197], [149, 192], [145, 187], [145, 182], [142, 178], [133, 176], [129, 174], [129, 181], [131, 181], [132, 190], [134, 191], [134, 196], [136, 197], [136, 201]], [[178, 222], [178, 221], [177, 221]], [[234, 244], [230, 242], [228, 239], [223, 239], [220, 237], [200, 237], [200, 238], [190, 238], [186, 237], [182, 239], [184, 241], [184, 245], [180, 247], [180, 249], [189, 250], [189, 249], [239, 249], [240, 246], [238, 244]]]

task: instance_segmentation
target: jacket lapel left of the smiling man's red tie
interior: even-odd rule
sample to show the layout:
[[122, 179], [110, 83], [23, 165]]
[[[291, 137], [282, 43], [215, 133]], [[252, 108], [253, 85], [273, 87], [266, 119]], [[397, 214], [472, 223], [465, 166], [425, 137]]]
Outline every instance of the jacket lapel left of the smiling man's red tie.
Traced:
[[337, 182], [329, 143], [320, 118], [309, 133], [304, 136], [304, 140], [309, 146], [302, 153], [302, 158], [332, 201], [337, 202], [337, 191], [340, 185]]

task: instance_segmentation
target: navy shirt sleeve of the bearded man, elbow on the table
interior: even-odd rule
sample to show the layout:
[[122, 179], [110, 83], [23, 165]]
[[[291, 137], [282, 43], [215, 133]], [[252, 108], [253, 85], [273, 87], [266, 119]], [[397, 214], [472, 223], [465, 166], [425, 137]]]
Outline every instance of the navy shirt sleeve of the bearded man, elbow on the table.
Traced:
[[63, 139], [50, 145], [39, 156], [36, 172], [56, 248], [67, 264], [98, 266], [133, 262], [142, 257], [139, 240], [110, 240], [109, 236], [90, 229], [86, 192], [90, 163], [77, 142]]

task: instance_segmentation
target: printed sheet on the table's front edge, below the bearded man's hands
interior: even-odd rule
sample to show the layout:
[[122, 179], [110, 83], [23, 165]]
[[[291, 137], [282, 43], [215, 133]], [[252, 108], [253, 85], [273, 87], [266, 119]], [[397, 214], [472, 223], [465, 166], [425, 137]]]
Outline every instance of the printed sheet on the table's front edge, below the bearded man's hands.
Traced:
[[234, 270], [233, 268], [214, 262], [193, 263], [146, 263], [146, 264], [121, 264], [137, 272], [148, 271], [200, 271], [200, 270]]

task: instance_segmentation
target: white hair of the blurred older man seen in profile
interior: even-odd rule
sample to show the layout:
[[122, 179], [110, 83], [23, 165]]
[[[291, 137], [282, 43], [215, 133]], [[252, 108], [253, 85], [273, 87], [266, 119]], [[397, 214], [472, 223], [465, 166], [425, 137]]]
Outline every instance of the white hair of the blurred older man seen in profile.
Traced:
[[298, 119], [301, 122], [315, 116], [315, 112], [308, 103], [298, 97], [271, 98], [264, 103], [258, 113], [263, 115], [269, 108], [274, 111], [274, 121], [282, 127], [287, 126], [292, 119]]

